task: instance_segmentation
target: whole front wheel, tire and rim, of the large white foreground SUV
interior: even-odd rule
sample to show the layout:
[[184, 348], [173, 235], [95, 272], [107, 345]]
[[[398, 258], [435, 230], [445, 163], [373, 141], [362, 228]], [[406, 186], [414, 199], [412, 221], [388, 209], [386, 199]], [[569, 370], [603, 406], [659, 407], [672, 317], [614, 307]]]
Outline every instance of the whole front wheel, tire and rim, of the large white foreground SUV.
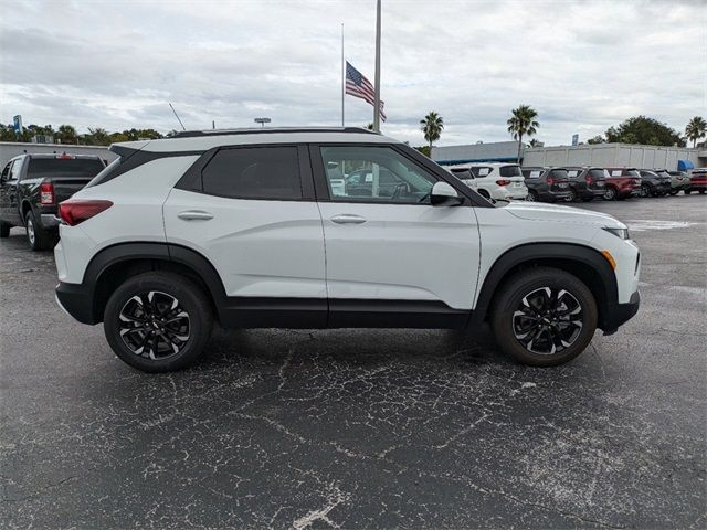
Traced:
[[[557, 298], [559, 294], [562, 296]], [[535, 309], [544, 304], [550, 312]], [[576, 276], [550, 267], [523, 271], [505, 280], [494, 297], [490, 314], [490, 327], [500, 349], [531, 367], [556, 367], [574, 359], [591, 342], [597, 320], [597, 301], [589, 288]], [[531, 333], [535, 338], [527, 341]], [[556, 333], [553, 340], [551, 333]]]

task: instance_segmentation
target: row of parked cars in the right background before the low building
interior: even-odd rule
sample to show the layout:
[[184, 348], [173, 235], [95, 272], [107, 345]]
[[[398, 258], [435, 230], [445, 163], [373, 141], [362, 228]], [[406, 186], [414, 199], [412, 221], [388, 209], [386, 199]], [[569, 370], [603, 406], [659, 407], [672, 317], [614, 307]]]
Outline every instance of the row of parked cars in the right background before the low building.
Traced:
[[541, 202], [621, 201], [630, 197], [689, 194], [707, 189], [707, 169], [692, 176], [665, 169], [527, 167], [517, 163], [463, 163], [447, 168], [486, 199]]

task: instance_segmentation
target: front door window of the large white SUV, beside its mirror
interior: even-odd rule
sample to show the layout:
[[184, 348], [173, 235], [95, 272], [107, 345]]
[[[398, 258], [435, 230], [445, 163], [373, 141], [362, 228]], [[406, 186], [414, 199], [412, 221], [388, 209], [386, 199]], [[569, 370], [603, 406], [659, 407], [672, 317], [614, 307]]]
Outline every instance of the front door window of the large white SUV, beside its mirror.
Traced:
[[390, 147], [321, 147], [329, 197], [342, 202], [429, 204], [436, 179]]

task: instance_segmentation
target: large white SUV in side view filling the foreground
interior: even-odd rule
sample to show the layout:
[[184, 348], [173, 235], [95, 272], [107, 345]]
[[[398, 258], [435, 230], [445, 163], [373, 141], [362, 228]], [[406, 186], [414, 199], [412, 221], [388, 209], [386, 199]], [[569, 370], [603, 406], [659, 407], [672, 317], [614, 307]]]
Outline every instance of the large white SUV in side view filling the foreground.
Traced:
[[81, 322], [103, 321], [117, 356], [144, 371], [193, 362], [214, 321], [488, 321], [515, 359], [553, 365], [639, 308], [639, 250], [623, 223], [494, 205], [363, 129], [197, 131], [112, 150], [118, 160], [60, 206], [56, 299]]

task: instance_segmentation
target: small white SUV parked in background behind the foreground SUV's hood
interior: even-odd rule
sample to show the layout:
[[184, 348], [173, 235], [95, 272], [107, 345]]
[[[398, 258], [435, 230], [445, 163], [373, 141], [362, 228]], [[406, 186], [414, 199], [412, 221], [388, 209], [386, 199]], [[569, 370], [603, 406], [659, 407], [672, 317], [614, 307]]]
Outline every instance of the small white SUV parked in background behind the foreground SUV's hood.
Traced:
[[517, 163], [462, 163], [446, 168], [486, 199], [525, 200], [528, 188]]

